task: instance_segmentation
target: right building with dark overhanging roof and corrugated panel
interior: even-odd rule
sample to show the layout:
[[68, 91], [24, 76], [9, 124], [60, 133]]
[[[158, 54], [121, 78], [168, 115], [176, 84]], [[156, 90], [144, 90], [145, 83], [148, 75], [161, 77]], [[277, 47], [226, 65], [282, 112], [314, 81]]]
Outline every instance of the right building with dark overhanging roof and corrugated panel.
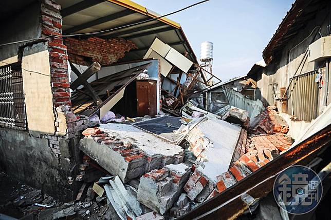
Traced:
[[265, 105], [310, 122], [330, 103], [331, 2], [297, 0], [263, 51]]

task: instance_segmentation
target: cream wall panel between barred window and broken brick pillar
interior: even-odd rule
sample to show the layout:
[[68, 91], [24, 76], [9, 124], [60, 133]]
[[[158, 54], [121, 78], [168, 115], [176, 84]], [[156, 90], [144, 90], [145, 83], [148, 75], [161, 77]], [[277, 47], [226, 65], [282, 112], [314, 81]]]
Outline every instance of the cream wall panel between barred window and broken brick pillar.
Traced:
[[24, 49], [22, 74], [29, 133], [34, 136], [54, 134], [55, 117], [48, 50], [45, 44], [36, 44]]

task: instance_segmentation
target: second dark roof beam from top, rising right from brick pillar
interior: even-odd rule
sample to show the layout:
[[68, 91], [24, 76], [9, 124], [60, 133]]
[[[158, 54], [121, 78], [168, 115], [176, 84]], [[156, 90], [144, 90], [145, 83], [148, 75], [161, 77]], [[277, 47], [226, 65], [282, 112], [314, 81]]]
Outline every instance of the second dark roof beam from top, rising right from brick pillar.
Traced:
[[76, 31], [84, 30], [86, 28], [90, 28], [90, 27], [93, 27], [93, 26], [96, 26], [96, 25], [100, 25], [100, 24], [109, 22], [109, 21], [113, 21], [115, 19], [125, 17], [125, 16], [133, 14], [133, 13], [135, 13], [135, 11], [126, 9], [124, 11], [120, 11], [120, 12], [117, 12], [117, 13], [114, 13], [114, 14], [110, 14], [110, 15], [107, 15], [107, 16], [104, 16], [104, 17], [100, 17], [100, 18], [95, 19], [93, 21], [86, 22], [84, 24], [77, 25], [75, 27], [69, 28], [67, 30], [64, 30], [63, 34], [71, 34], [71, 33], [74, 33]]

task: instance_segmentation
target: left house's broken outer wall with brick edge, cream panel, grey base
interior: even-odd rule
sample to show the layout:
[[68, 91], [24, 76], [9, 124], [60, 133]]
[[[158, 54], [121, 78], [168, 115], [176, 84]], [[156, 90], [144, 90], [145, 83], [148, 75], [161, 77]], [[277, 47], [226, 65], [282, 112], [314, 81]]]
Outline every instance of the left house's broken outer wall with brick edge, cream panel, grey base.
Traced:
[[[8, 27], [31, 24], [20, 30], [24, 39], [61, 34], [60, 5], [50, 0], [37, 3], [39, 10], [34, 10], [38, 13], [28, 10], [29, 16], [19, 16], [18, 21], [8, 19]], [[2, 35], [2, 42], [15, 41], [12, 32]], [[81, 131], [95, 124], [70, 111], [67, 48], [61, 37], [8, 48], [6, 52], [1, 48], [2, 62], [22, 63], [28, 131], [0, 127], [0, 165], [27, 184], [70, 201], [80, 187], [72, 179], [79, 173], [82, 158], [78, 150]]]

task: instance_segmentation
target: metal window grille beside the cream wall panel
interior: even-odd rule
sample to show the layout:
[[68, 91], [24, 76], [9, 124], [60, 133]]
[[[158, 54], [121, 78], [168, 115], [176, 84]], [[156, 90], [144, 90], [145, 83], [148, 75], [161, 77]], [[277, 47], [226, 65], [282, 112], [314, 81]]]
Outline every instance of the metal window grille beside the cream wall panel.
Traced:
[[0, 126], [27, 130], [22, 70], [0, 68]]

